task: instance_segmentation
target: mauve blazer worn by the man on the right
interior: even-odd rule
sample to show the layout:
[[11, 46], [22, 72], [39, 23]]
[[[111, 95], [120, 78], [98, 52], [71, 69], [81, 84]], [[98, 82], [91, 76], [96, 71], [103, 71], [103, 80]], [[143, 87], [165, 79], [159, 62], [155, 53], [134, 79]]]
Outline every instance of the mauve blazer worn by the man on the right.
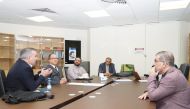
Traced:
[[163, 76], [148, 78], [148, 97], [156, 109], [190, 109], [190, 87], [181, 71], [171, 67]]

